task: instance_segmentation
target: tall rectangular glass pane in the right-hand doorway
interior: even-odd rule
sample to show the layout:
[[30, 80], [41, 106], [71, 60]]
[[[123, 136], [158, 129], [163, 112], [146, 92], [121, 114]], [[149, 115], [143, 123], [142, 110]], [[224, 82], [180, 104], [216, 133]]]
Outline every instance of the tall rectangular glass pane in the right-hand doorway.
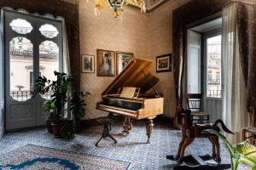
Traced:
[[207, 97], [221, 98], [221, 35], [207, 38]]

